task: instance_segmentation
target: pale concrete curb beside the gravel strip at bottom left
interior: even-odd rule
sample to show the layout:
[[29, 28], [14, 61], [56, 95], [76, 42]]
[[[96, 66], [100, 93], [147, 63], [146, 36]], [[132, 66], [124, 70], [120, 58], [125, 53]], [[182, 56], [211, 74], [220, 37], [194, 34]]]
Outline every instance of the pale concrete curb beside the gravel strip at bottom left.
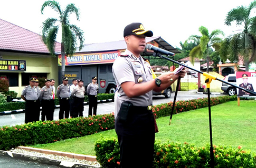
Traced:
[[[19, 147], [24, 147], [24, 146], [19, 146]], [[55, 152], [59, 152], [59, 151], [55, 151]], [[47, 165], [54, 165], [54, 166], [59, 166], [59, 167], [99, 168], [98, 166], [93, 166], [93, 165], [79, 164], [79, 163], [73, 163], [73, 162], [67, 162], [67, 161], [59, 161], [59, 160], [49, 159], [49, 158], [45, 158], [45, 157], [31, 156], [31, 155], [20, 154], [20, 153], [15, 153], [15, 152], [10, 152], [10, 151], [0, 151], [0, 155], [6, 156], [6, 157], [11, 157], [11, 158], [18, 159], [18, 160], [32, 161], [32, 162], [37, 162], [37, 163], [47, 164]]]

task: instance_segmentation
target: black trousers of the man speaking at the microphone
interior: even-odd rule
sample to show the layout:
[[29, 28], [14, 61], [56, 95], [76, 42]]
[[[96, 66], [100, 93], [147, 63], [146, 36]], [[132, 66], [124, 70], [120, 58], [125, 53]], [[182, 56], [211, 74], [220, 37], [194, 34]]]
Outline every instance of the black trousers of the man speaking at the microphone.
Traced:
[[115, 129], [120, 145], [121, 168], [153, 167], [155, 125], [151, 110], [132, 108], [127, 122], [116, 118]]

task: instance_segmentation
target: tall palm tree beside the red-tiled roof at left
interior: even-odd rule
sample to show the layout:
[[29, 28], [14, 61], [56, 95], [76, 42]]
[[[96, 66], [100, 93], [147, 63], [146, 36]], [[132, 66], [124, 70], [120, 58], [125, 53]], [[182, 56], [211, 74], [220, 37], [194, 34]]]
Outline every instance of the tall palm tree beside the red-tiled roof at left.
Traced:
[[[80, 40], [79, 50], [83, 47], [83, 31], [76, 25], [70, 24], [69, 15], [75, 13], [79, 20], [79, 10], [74, 4], [66, 6], [64, 11], [61, 10], [60, 4], [56, 1], [46, 1], [42, 5], [41, 13], [45, 7], [51, 7], [59, 13], [59, 19], [48, 18], [43, 22], [42, 34], [44, 44], [48, 47], [50, 54], [55, 57], [55, 40], [61, 26], [61, 74], [64, 77], [65, 73], [65, 54], [72, 56], [76, 50], [77, 38]], [[58, 24], [59, 23], [59, 24]], [[58, 25], [57, 25], [58, 24]]]

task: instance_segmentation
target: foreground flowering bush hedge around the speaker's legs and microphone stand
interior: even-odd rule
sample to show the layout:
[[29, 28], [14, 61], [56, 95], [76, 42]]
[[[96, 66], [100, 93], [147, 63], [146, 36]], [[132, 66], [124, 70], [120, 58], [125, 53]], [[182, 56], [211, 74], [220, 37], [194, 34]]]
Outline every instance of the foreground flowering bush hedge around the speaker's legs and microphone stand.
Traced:
[[[120, 164], [119, 144], [115, 138], [101, 138], [94, 145], [98, 162], [102, 168], [115, 168]], [[256, 155], [242, 150], [242, 146], [214, 145], [214, 167], [256, 166]], [[132, 159], [132, 156], [131, 156]], [[210, 167], [210, 146], [196, 148], [193, 144], [155, 142], [154, 166], [160, 167]]]

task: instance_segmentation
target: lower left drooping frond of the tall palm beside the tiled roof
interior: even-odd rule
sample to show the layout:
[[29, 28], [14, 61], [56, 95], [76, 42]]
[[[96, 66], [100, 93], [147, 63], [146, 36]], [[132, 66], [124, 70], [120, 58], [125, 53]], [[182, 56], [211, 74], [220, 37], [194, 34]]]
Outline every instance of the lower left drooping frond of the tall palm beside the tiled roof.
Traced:
[[46, 46], [50, 51], [50, 54], [55, 57], [55, 40], [58, 34], [59, 27], [53, 26], [50, 30], [48, 35], [45, 38]]

